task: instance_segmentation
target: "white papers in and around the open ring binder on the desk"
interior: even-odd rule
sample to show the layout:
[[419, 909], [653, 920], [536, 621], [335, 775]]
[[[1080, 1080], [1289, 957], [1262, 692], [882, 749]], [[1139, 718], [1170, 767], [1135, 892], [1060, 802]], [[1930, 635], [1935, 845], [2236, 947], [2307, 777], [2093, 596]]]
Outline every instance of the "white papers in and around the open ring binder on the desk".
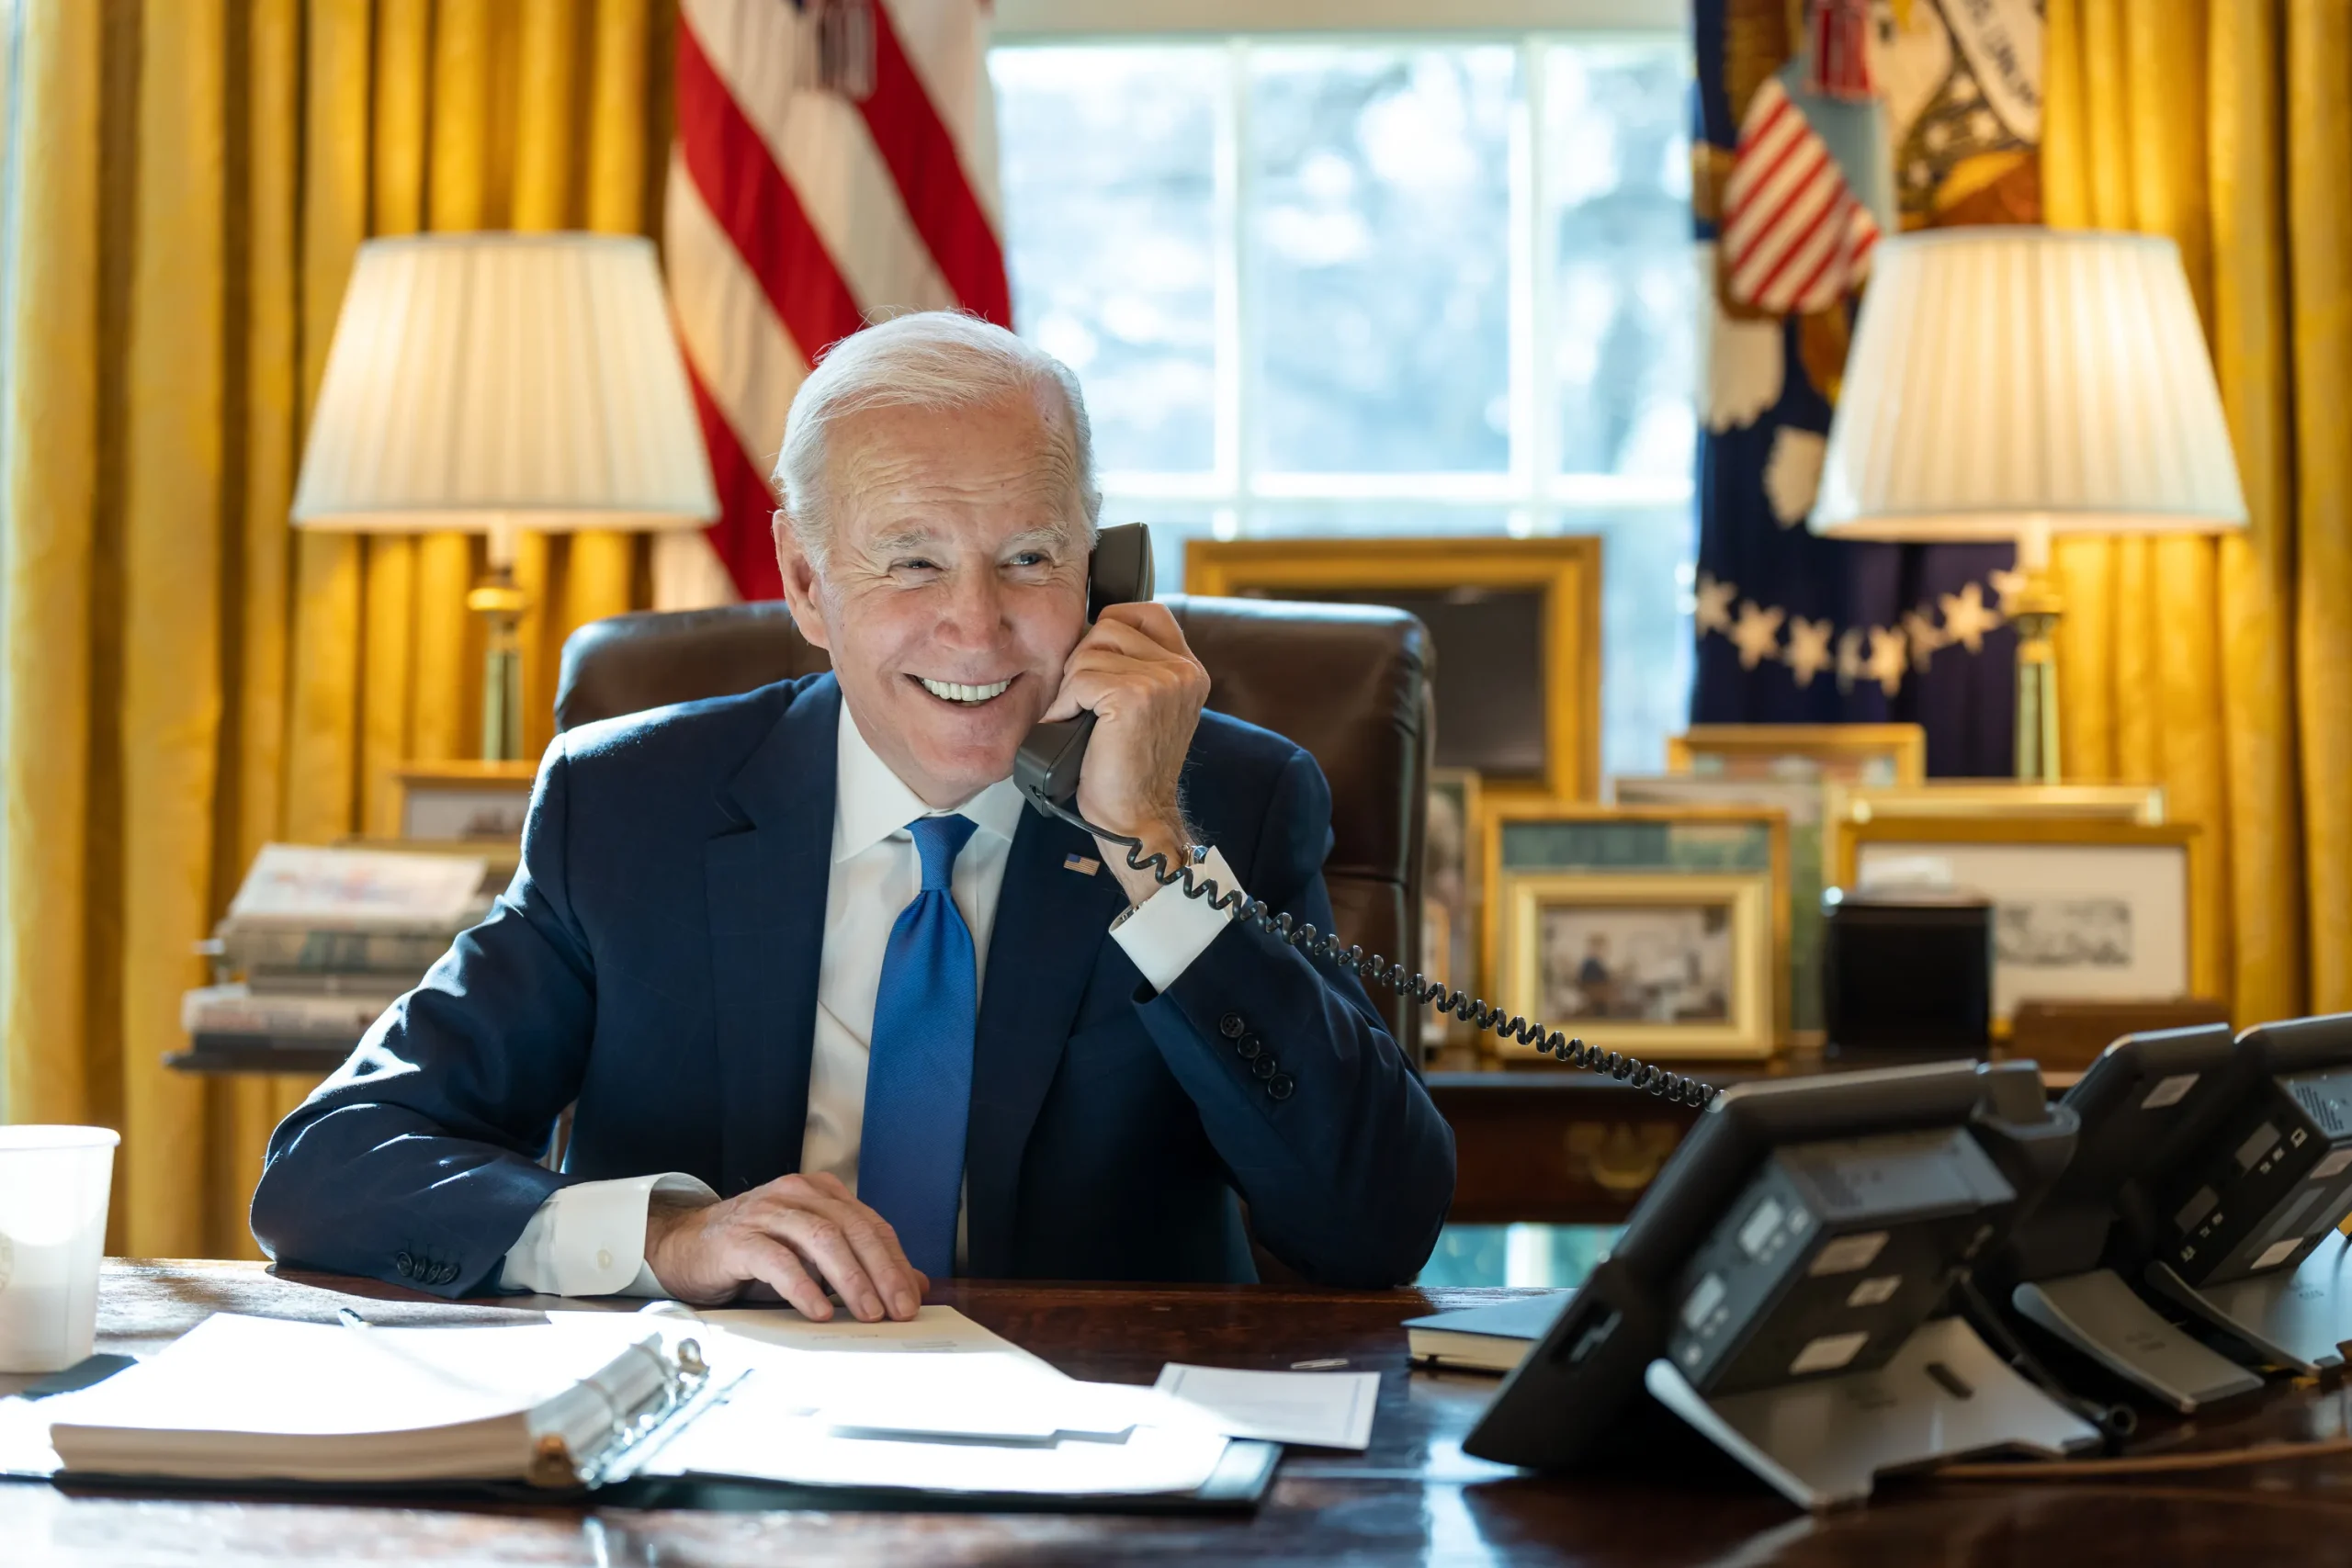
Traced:
[[[0, 1401], [0, 1467], [181, 1479], [515, 1479], [546, 1432], [586, 1453], [694, 1338], [703, 1394], [602, 1479], [779, 1481], [906, 1493], [1188, 1495], [1232, 1439], [1357, 1448], [1376, 1373], [1167, 1366], [1084, 1382], [950, 1307], [910, 1324], [788, 1309], [550, 1312], [515, 1328], [336, 1328], [221, 1314], [92, 1389]], [[656, 1371], [659, 1378], [659, 1371]], [[602, 1389], [595, 1401], [586, 1389]], [[595, 1406], [600, 1432], [576, 1425]], [[574, 1410], [579, 1406], [579, 1410]], [[1240, 1458], [1240, 1455], [1237, 1455]], [[1261, 1458], [1263, 1467], [1265, 1460]]]

